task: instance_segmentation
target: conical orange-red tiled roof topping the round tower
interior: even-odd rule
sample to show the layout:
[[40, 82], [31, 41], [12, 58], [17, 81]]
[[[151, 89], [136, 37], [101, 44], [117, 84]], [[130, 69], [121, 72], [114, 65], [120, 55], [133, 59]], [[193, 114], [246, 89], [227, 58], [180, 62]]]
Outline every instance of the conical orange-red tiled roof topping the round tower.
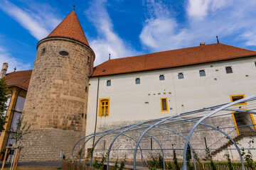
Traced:
[[72, 11], [68, 16], [51, 32], [47, 38], [71, 38], [88, 45], [85, 33], [82, 31], [78, 16]]

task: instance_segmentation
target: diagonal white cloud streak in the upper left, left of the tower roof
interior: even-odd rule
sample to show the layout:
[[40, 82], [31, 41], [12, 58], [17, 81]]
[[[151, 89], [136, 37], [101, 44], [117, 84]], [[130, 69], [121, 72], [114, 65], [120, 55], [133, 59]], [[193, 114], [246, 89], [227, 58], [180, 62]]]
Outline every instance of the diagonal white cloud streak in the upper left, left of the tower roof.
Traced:
[[0, 1], [0, 8], [23, 28], [26, 28], [37, 40], [46, 38], [50, 31], [60, 23], [53, 13], [42, 6], [31, 5], [31, 8], [21, 9], [10, 1]]

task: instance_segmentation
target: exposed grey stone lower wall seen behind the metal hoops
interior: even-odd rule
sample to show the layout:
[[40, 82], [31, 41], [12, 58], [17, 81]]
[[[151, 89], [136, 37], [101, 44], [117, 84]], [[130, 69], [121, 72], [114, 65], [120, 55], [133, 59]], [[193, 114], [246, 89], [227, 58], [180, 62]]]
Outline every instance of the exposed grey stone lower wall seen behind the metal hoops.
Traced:
[[[108, 123], [108, 125], [101, 125], [99, 126], [99, 128], [97, 129], [97, 132], [103, 131], [103, 130], [110, 130], [113, 128], [119, 128], [121, 126], [124, 125], [132, 125], [135, 123], [139, 123], [139, 122], [119, 122], [118, 124], [110, 124]], [[224, 127], [229, 127], [229, 126], [234, 126], [233, 123], [233, 119], [230, 116], [226, 116], [221, 118], [209, 118], [208, 120], [205, 120], [203, 123], [207, 123], [208, 125], [213, 125], [214, 127], [218, 127], [218, 128], [224, 128]], [[194, 123], [178, 123], [178, 124], [174, 124], [174, 125], [166, 125], [164, 126], [164, 128], [169, 128], [170, 130], [174, 130], [176, 132], [181, 132], [181, 135], [183, 135], [185, 138], [188, 135], [188, 132], [191, 130], [191, 128], [193, 127]], [[145, 129], [140, 129], [140, 131], [144, 131]], [[203, 131], [201, 131], [203, 130]], [[224, 132], [230, 132], [233, 129], [222, 129]], [[210, 128], [207, 128], [206, 126], [203, 125], [199, 125], [198, 128], [196, 128], [196, 131], [198, 132], [193, 132], [193, 135], [191, 136], [191, 146], [196, 149], [196, 153], [198, 154], [198, 157], [201, 157], [201, 159], [206, 157], [206, 145], [205, 145], [205, 141], [204, 141], [204, 137], [206, 137], [206, 141], [207, 141], [207, 145], [208, 147], [210, 145], [212, 145], [214, 142], [216, 142], [218, 139], [220, 139], [221, 137], [223, 137], [224, 135], [220, 132], [218, 132], [217, 130], [210, 130]], [[130, 135], [132, 137], [134, 137], [135, 140], [138, 140], [141, 133], [137, 133], [137, 132], [125, 132], [125, 135]], [[174, 145], [175, 149], [183, 149], [184, 147], [184, 142], [185, 140], [183, 140], [182, 137], [178, 136], [178, 135], [174, 135], [174, 133], [172, 132], [168, 132], [166, 130], [163, 130], [161, 128], [154, 128], [153, 130], [149, 130], [149, 132], [147, 132], [148, 135], [152, 135], [156, 138], [156, 140], [158, 140], [161, 144], [161, 147], [164, 149], [171, 149], [172, 145]], [[90, 134], [87, 134], [90, 135]], [[116, 134], [115, 134], [116, 135]], [[97, 150], [97, 149], [108, 149], [110, 147], [110, 143], [112, 142], [112, 140], [114, 139], [115, 135], [107, 135], [106, 137], [103, 137], [102, 140], [100, 140], [100, 142], [97, 144], [97, 147], [95, 147], [95, 152], [94, 152], [94, 156], [95, 157], [102, 157], [102, 154], [106, 153], [107, 150], [102, 151], [102, 150]], [[157, 154], [161, 154], [161, 151], [156, 151], [156, 150], [150, 150], [151, 148], [151, 137], [149, 136], [144, 136], [142, 138], [142, 141], [140, 142], [140, 146], [142, 147], [142, 149], [149, 149], [149, 150], [144, 150], [143, 151], [143, 155], [146, 159], [150, 159], [151, 155], [157, 155]], [[98, 137], [95, 138], [95, 142], [97, 141]], [[152, 140], [152, 144], [153, 144], [153, 149], [160, 149], [158, 143], [155, 140]], [[122, 150], [119, 151], [117, 149], [134, 149], [134, 147], [136, 146], [136, 142], [134, 142], [134, 140], [129, 139], [128, 137], [124, 137], [124, 136], [120, 136], [117, 138], [117, 140], [114, 142], [114, 145], [112, 146], [112, 152], [110, 154], [110, 156], [112, 157], [112, 159], [116, 159], [118, 158], [124, 158], [124, 155], [126, 155], [127, 158], [132, 159], [134, 156], [134, 151], [132, 150]], [[90, 142], [88, 142], [88, 144], [86, 145], [87, 148], [92, 147], [92, 140], [90, 140]], [[165, 158], [166, 159], [172, 159], [173, 157], [173, 151], [172, 150], [165, 150], [164, 151], [165, 154]], [[183, 150], [176, 150], [176, 154], [178, 159], [182, 159], [182, 154], [183, 154]], [[137, 159], [140, 158], [140, 152], [139, 152], [139, 148], [138, 148], [138, 152], [137, 152]]]

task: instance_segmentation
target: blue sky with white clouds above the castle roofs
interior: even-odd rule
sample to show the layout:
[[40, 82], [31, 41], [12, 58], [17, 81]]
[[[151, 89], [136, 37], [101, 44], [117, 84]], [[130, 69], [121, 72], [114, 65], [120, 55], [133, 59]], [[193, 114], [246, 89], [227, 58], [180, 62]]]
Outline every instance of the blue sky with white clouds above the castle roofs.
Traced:
[[32, 69], [36, 44], [73, 10], [95, 51], [112, 58], [221, 43], [256, 50], [256, 1], [0, 0], [0, 63]]

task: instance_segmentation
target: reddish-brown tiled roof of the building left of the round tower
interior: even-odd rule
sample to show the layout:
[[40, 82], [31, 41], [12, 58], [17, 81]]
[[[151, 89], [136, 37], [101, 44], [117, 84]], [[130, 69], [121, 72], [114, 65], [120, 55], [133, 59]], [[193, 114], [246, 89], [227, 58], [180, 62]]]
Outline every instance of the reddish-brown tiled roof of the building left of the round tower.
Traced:
[[31, 78], [31, 70], [25, 70], [21, 72], [11, 72], [6, 74], [6, 82], [8, 87], [17, 86], [23, 90], [28, 91], [28, 84]]

